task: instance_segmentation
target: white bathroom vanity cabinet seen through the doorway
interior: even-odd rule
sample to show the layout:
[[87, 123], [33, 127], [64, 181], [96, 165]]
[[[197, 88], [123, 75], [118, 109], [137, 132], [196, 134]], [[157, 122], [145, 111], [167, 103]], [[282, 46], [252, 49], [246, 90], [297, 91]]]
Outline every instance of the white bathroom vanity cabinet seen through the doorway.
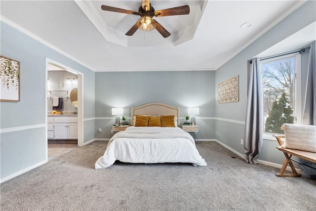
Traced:
[[49, 139], [77, 139], [78, 138], [78, 119], [77, 118], [53, 118], [53, 138]]

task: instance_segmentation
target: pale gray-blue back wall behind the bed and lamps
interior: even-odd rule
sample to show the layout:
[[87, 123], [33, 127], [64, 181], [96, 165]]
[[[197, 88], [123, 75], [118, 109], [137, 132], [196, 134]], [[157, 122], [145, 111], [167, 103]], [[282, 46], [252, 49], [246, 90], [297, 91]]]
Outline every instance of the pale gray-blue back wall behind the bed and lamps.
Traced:
[[199, 138], [215, 138], [214, 71], [97, 72], [95, 95], [96, 138], [111, 138], [111, 108], [123, 107], [124, 116], [131, 118], [131, 107], [151, 102], [179, 106], [182, 118], [188, 107], [199, 107]]

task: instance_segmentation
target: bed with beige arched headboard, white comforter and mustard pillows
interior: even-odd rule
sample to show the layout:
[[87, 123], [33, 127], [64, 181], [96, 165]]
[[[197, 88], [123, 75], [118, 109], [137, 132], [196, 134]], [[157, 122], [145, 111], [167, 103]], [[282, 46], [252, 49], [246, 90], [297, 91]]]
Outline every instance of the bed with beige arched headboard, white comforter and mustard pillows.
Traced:
[[[199, 155], [193, 137], [177, 127], [180, 125], [179, 107], [163, 103], [148, 103], [133, 107], [131, 111], [131, 126], [113, 135], [104, 155], [96, 161], [95, 169], [108, 168], [117, 160], [124, 163], [207, 165]], [[163, 118], [170, 119], [171, 116], [173, 116], [173, 127], [165, 127], [166, 125], [148, 127], [150, 121], [147, 126], [139, 126], [139, 119], [137, 119], [148, 117], [155, 120], [161, 117], [161, 124], [163, 124]]]

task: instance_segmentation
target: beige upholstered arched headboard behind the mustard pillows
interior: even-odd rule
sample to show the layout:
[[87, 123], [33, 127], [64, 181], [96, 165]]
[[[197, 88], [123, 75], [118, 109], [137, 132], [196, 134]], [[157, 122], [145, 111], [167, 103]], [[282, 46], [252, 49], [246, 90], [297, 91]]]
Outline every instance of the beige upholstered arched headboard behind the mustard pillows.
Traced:
[[[177, 117], [178, 126], [180, 125], [180, 107], [170, 106], [163, 103], [147, 103], [141, 106], [132, 107], [132, 120], [135, 115], [150, 115], [160, 117], [174, 115]], [[133, 125], [133, 121], [131, 121]]]

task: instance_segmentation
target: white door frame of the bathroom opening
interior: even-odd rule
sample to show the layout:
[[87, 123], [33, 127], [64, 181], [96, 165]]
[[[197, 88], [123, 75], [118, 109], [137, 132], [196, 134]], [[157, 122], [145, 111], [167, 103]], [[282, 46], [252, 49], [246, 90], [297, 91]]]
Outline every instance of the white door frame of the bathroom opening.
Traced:
[[47, 138], [47, 81], [48, 64], [55, 65], [65, 71], [78, 75], [78, 146], [83, 146], [83, 73], [64, 64], [45, 57], [45, 163], [48, 162], [48, 138]]

